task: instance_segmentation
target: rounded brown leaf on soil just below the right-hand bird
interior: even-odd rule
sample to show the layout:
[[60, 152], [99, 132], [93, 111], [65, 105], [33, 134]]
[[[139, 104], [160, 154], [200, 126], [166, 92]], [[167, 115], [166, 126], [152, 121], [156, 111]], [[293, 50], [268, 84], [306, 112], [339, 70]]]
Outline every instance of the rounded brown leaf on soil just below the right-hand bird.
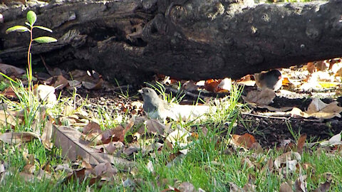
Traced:
[[269, 105], [276, 97], [274, 90], [264, 89], [264, 90], [254, 90], [247, 93], [247, 96], [242, 98], [245, 102], [250, 104], [255, 104], [257, 106]]

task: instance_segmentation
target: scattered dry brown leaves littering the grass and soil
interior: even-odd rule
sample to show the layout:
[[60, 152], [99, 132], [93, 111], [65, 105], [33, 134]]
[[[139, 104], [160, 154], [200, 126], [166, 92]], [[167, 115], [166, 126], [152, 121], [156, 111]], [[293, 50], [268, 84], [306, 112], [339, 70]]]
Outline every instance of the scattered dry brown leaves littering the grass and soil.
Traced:
[[[308, 64], [309, 65], [309, 64]], [[311, 71], [317, 70], [318, 67], [310, 66]], [[314, 68], [314, 69], [313, 69]], [[336, 74], [337, 74], [336, 70]], [[53, 87], [58, 87], [63, 90], [63, 88], [68, 89], [70, 87], [80, 87], [84, 86], [88, 90], [98, 90], [104, 86], [102, 78], [95, 73], [82, 73], [80, 79], [75, 79], [71, 81], [64, 78], [61, 73], [57, 73], [56, 80], [51, 80], [49, 83]], [[318, 79], [318, 75], [314, 75], [311, 72], [311, 77], [308, 82], [311, 83], [312, 87], [306, 85], [305, 89], [314, 90], [318, 89], [317, 83], [315, 86], [314, 80], [318, 80], [321, 87], [327, 87], [328, 81], [331, 78]], [[75, 75], [77, 77], [77, 75]], [[83, 79], [82, 79], [83, 78]], [[82, 80], [81, 80], [82, 79]], [[86, 82], [85, 79], [92, 80], [93, 82]], [[251, 81], [250, 78], [246, 78]], [[293, 78], [286, 78], [286, 82], [283, 85], [287, 87], [304, 90], [303, 86], [300, 86], [298, 81]], [[78, 81], [78, 82], [75, 82]], [[318, 82], [317, 81], [317, 82]], [[82, 82], [82, 83], [80, 83]], [[170, 80], [170, 82], [172, 82]], [[204, 83], [204, 89], [210, 90], [212, 92], [224, 93], [232, 89], [229, 87], [230, 80], [208, 80]], [[240, 82], [243, 83], [244, 81]], [[325, 84], [323, 82], [326, 82]], [[250, 85], [246, 83], [245, 85]], [[336, 85], [336, 84], [334, 84]], [[47, 86], [47, 85], [44, 85]], [[189, 82], [187, 87], [188, 90], [198, 90], [198, 85], [195, 82]], [[43, 89], [44, 90], [44, 89]], [[41, 100], [51, 102], [56, 105], [56, 97], [53, 97], [54, 89], [47, 87], [46, 93], [43, 90], [38, 91], [38, 97]], [[48, 91], [50, 90], [50, 91]], [[52, 91], [53, 90], [53, 91]], [[227, 90], [227, 91], [226, 91]], [[273, 111], [289, 111], [284, 113], [284, 117], [304, 117], [306, 119], [316, 118], [316, 119], [332, 119], [341, 117], [339, 115], [342, 110], [338, 106], [338, 102], [323, 102], [318, 98], [314, 97], [309, 105], [307, 105], [307, 110], [296, 110], [296, 107], [289, 107], [286, 110], [280, 110], [281, 107], [269, 106], [274, 103], [276, 99], [277, 92], [249, 92], [247, 97], [244, 98], [246, 102], [253, 104], [254, 107], [273, 109]], [[40, 96], [39, 96], [40, 95]], [[51, 99], [48, 99], [50, 98]], [[48, 99], [48, 100], [46, 100]], [[104, 101], [103, 101], [104, 102]], [[142, 105], [125, 105], [120, 103], [115, 105], [120, 106], [119, 110], [125, 112], [132, 112], [133, 114], [142, 114]], [[38, 139], [41, 141], [46, 149], [51, 150], [53, 147], [61, 148], [63, 159], [68, 159], [72, 162], [81, 162], [81, 168], [73, 169], [67, 164], [59, 164], [53, 171], [66, 171], [68, 175], [64, 178], [64, 182], [69, 182], [73, 178], [78, 178], [79, 181], [84, 179], [89, 179], [90, 184], [95, 182], [109, 182], [115, 180], [115, 176], [119, 173], [128, 174], [130, 169], [135, 167], [135, 162], [133, 161], [134, 154], [141, 153], [145, 156], [155, 156], [155, 152], [160, 149], [176, 150], [170, 153], [169, 162], [174, 164], [175, 161], [180, 161], [184, 159], [187, 155], [187, 151], [191, 150], [192, 144], [196, 142], [198, 138], [197, 130], [183, 129], [177, 127], [176, 129], [170, 129], [169, 125], [163, 124], [153, 119], [139, 119], [138, 117], [131, 119], [120, 118], [122, 125], [116, 126], [115, 128], [105, 127], [103, 129], [103, 124], [100, 125], [97, 119], [87, 117], [82, 110], [77, 110], [71, 105], [66, 105], [64, 108], [64, 113], [62, 114], [62, 119], [68, 121], [71, 126], [60, 126], [59, 122], [46, 122], [45, 127], [40, 134], [34, 132], [5, 132], [0, 135], [0, 140], [8, 144], [13, 145], [24, 145], [26, 142], [31, 142], [33, 139]], [[284, 108], [283, 108], [284, 109]], [[9, 110], [6, 110], [6, 112]], [[4, 118], [1, 119], [2, 122], [9, 124], [11, 127], [15, 127], [17, 124], [22, 124], [18, 119], [22, 119], [19, 114], [7, 115], [4, 112]], [[12, 118], [13, 117], [13, 118]], [[19, 118], [17, 118], [19, 117]], [[279, 117], [279, 116], [278, 116]], [[12, 118], [12, 119], [11, 119]], [[41, 117], [43, 118], [43, 117]], [[15, 122], [15, 123], [14, 123]], [[150, 142], [141, 144], [141, 139], [155, 138], [159, 142]], [[249, 153], [249, 151], [254, 151], [252, 156], [244, 157], [242, 163], [247, 165], [249, 169], [261, 169], [261, 171], [276, 172], [281, 176], [281, 178], [288, 178], [289, 174], [299, 174], [299, 177], [295, 181], [289, 181], [286, 179], [284, 183], [279, 186], [279, 191], [308, 191], [308, 186], [306, 179], [308, 175], [302, 174], [304, 169], [314, 169], [314, 166], [306, 164], [306, 162], [301, 159], [301, 154], [303, 151], [311, 150], [311, 147], [331, 147], [330, 151], [324, 151], [328, 154], [333, 154], [338, 151], [338, 146], [341, 146], [341, 133], [336, 134], [323, 142], [309, 143], [306, 141], [306, 134], [303, 134], [294, 143], [291, 141], [284, 146], [280, 146], [279, 150], [284, 150], [284, 154], [280, 154], [276, 159], [269, 159], [266, 157], [264, 163], [256, 161], [253, 155], [260, 155], [263, 151], [269, 149], [264, 149], [258, 140], [254, 138], [253, 134], [231, 134], [227, 141], [227, 146], [232, 146], [233, 153], [242, 153], [240, 150]], [[321, 149], [319, 148], [318, 149]], [[28, 158], [31, 159], [31, 158]], [[170, 166], [172, 166], [170, 164]], [[214, 163], [213, 163], [214, 164]], [[48, 166], [48, 165], [46, 165]], [[307, 167], [307, 168], [306, 168]], [[146, 169], [150, 171], [151, 174], [155, 174], [155, 169], [152, 161], [146, 163]], [[38, 170], [38, 171], [36, 171]], [[5, 166], [4, 171], [5, 172]], [[2, 173], [1, 172], [1, 173]], [[51, 171], [43, 170], [43, 166], [38, 167], [34, 164], [34, 160], [28, 160], [26, 166], [24, 166], [24, 171], [21, 171], [21, 176], [23, 176], [27, 181], [32, 181], [34, 177], [42, 178], [43, 175], [51, 174]], [[117, 182], [117, 181], [115, 181]], [[229, 183], [232, 191], [255, 191], [255, 178], [250, 176], [247, 183], [240, 187], [233, 182]], [[136, 186], [137, 181], [134, 179], [127, 178], [123, 181], [124, 186], [133, 187]], [[315, 190], [316, 191], [326, 191], [331, 187], [331, 181], [322, 182]], [[190, 182], [181, 182], [174, 186], [168, 186], [164, 191], [203, 191], [201, 188], [195, 188]]]

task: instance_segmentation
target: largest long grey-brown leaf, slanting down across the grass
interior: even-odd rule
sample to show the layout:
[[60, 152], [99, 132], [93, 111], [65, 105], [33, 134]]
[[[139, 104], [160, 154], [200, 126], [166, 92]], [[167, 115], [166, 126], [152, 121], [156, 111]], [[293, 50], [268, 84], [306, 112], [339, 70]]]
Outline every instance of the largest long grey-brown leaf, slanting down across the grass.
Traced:
[[83, 161], [87, 161], [89, 164], [110, 162], [125, 167], [133, 165], [133, 162], [91, 149], [87, 145], [88, 142], [81, 140], [81, 132], [71, 127], [56, 127], [53, 125], [53, 138], [54, 144], [61, 147], [63, 156], [68, 157], [71, 161], [76, 161], [78, 156], [81, 156]]

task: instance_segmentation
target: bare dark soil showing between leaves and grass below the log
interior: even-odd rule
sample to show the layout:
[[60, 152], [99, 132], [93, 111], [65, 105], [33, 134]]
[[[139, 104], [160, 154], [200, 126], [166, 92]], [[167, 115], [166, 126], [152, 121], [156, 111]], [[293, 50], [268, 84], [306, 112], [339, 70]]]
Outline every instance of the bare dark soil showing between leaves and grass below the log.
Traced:
[[[244, 90], [243, 94], [250, 88]], [[83, 98], [88, 95], [88, 102], [90, 102], [90, 110], [96, 112], [97, 105], [105, 106], [105, 108], [112, 114], [121, 112], [133, 111], [131, 103], [135, 100], [142, 101], [141, 95], [138, 95], [136, 90], [130, 92], [132, 98], [126, 99], [114, 91], [106, 90], [81, 90], [78, 91]], [[215, 97], [214, 94], [208, 94]], [[219, 95], [222, 97], [224, 95]], [[301, 110], [305, 110], [310, 104], [311, 99], [309, 97], [302, 98], [288, 98], [286, 95], [279, 95], [274, 99], [272, 107], [299, 107]], [[297, 95], [298, 96], [298, 95]], [[185, 97], [185, 100], [192, 99], [191, 97]], [[342, 100], [341, 97], [337, 99]], [[323, 102], [332, 102], [333, 99], [323, 99]], [[243, 102], [241, 100], [240, 102]], [[136, 111], [136, 110], [135, 110]], [[263, 147], [279, 146], [284, 139], [291, 139], [294, 142], [294, 137], [291, 134], [307, 134], [309, 142], [316, 142], [322, 139], [328, 139], [335, 134], [342, 132], [342, 121], [338, 117], [333, 119], [304, 119], [294, 117], [266, 117], [262, 115], [262, 112], [267, 112], [266, 109], [255, 108], [252, 112], [241, 114], [241, 118], [237, 122], [237, 126], [234, 127], [234, 134], [252, 134], [259, 144]], [[138, 115], [142, 115], [142, 110], [138, 110]]]

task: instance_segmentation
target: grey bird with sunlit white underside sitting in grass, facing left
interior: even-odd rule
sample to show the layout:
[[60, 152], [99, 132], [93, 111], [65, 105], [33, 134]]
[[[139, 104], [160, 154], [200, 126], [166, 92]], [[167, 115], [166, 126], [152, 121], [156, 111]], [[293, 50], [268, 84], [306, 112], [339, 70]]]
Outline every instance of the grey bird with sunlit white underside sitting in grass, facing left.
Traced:
[[155, 90], [149, 87], [144, 87], [138, 90], [144, 100], [143, 109], [147, 116], [151, 119], [160, 119], [165, 121], [167, 117], [171, 119], [180, 120], [193, 120], [199, 119], [204, 113], [216, 110], [215, 107], [207, 105], [177, 105], [174, 103], [167, 103], [158, 97]]

